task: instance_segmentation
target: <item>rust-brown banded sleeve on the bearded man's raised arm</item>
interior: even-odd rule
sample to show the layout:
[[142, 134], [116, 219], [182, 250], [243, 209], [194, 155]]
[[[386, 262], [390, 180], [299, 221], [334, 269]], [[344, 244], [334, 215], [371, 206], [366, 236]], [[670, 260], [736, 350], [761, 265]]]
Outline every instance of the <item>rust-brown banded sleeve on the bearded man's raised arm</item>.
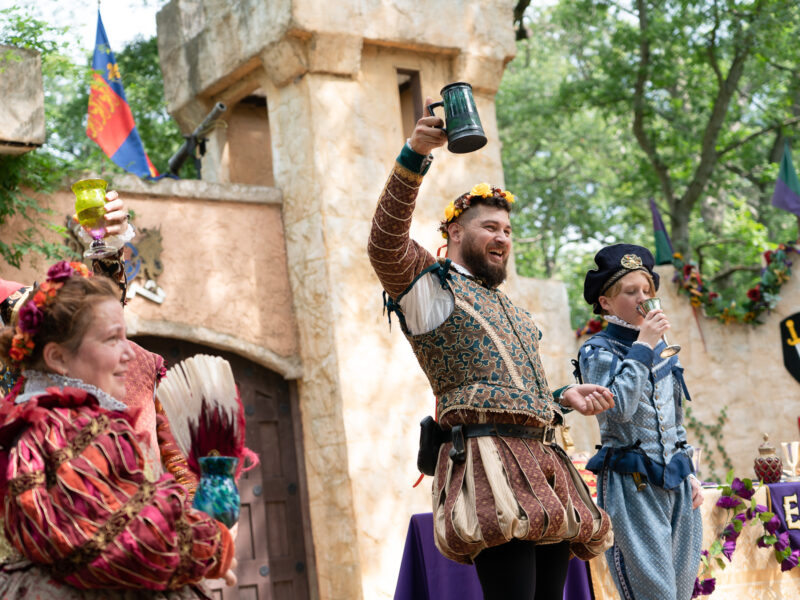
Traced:
[[397, 298], [425, 267], [433, 255], [409, 236], [422, 175], [395, 163], [378, 200], [367, 252], [383, 289]]

